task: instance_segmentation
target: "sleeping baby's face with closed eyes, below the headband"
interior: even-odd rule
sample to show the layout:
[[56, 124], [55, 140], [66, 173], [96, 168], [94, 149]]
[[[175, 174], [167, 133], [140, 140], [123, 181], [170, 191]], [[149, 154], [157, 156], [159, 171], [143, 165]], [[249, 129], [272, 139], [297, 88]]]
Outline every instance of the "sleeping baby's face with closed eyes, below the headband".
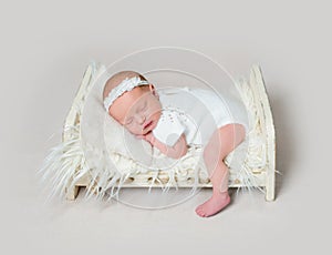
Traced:
[[110, 114], [133, 134], [146, 134], [158, 123], [162, 105], [155, 91], [135, 88], [117, 98]]

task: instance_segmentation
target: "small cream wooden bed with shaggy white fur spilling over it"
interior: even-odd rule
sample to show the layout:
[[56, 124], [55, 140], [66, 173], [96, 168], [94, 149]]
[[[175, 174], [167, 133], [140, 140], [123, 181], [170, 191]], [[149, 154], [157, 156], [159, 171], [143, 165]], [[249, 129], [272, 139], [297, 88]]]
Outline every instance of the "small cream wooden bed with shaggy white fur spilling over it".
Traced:
[[[173, 171], [144, 169], [133, 164], [132, 159], [120, 153], [112, 152], [110, 155], [97, 147], [93, 151], [97, 152], [101, 160], [110, 157], [115, 164], [125, 162], [131, 167], [124, 167], [127, 171], [120, 173], [105, 165], [86, 164], [86, 153], [82, 149], [82, 112], [93, 83], [102, 70], [105, 70], [105, 67], [95, 62], [87, 67], [65, 119], [62, 143], [54, 147], [44, 161], [41, 172], [44, 180], [51, 182], [51, 194], [75, 200], [80, 187], [86, 187], [86, 194], [91, 197], [103, 197], [110, 190], [114, 196], [118, 194], [114, 193], [114, 188], [118, 191], [120, 187], [211, 187], [206, 171], [201, 169], [195, 171], [193, 167], [196, 162], [194, 152], [201, 150], [197, 147], [190, 149], [188, 155], [180, 160]], [[230, 160], [226, 159], [226, 164], [230, 170], [229, 187], [258, 187], [264, 192], [267, 201], [273, 201], [276, 134], [260, 68], [253, 65], [250, 70], [250, 79], [239, 79], [236, 86], [248, 110], [250, 132], [247, 145], [235, 150], [245, 150], [245, 160], [236, 162], [234, 166]]]

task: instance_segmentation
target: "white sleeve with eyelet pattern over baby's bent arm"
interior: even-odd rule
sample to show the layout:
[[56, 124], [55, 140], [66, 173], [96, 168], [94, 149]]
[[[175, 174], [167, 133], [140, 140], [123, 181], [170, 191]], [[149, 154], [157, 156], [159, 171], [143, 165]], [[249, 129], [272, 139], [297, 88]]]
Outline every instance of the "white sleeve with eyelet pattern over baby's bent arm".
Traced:
[[153, 134], [162, 143], [173, 146], [185, 130], [186, 126], [181, 123], [176, 112], [163, 110], [160, 119], [153, 130]]

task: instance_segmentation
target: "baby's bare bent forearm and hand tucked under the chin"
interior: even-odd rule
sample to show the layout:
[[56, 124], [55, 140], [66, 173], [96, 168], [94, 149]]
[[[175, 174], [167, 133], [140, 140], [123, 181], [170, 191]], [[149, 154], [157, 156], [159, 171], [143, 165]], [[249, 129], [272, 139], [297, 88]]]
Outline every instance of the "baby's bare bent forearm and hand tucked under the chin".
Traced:
[[173, 146], [167, 146], [166, 144], [158, 141], [152, 132], [149, 132], [145, 140], [148, 141], [153, 146], [156, 146], [162, 153], [164, 153], [166, 156], [173, 157], [173, 159], [179, 159], [187, 154], [188, 146], [185, 134], [181, 134], [181, 136], [176, 141], [176, 143]]

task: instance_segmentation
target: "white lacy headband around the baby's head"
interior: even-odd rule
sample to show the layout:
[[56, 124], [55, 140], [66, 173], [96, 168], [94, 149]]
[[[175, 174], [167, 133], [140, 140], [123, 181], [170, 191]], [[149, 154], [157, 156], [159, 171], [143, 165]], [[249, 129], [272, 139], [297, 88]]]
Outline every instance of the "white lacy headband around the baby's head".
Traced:
[[112, 91], [110, 91], [108, 95], [104, 100], [104, 108], [108, 112], [112, 103], [124, 92], [133, 90], [135, 86], [149, 84], [147, 81], [141, 80], [139, 76], [133, 76], [131, 79], [126, 78], [123, 80], [117, 86], [115, 86]]

